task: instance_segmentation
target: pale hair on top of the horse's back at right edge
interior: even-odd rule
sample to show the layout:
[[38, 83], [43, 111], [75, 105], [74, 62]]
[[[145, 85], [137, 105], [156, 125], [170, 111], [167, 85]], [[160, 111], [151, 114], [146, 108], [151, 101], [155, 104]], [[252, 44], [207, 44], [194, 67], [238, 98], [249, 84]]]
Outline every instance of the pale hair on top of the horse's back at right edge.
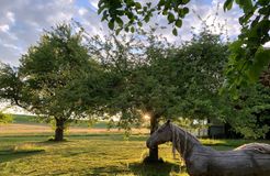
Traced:
[[255, 152], [259, 152], [263, 154], [270, 154], [270, 145], [262, 144], [262, 143], [249, 143], [249, 144], [244, 144], [235, 148], [235, 151], [239, 151], [239, 150], [249, 150], [249, 151], [255, 151]]

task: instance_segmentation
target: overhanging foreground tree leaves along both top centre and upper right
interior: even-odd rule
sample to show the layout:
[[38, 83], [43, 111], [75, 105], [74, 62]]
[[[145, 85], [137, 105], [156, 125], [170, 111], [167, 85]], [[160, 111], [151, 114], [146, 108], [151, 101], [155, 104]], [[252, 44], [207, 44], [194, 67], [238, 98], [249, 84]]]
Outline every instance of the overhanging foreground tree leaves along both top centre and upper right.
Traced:
[[[270, 1], [226, 0], [224, 11], [230, 10], [234, 2], [244, 11], [239, 16], [241, 34], [230, 45], [224, 88], [236, 95], [239, 86], [255, 82], [269, 66], [270, 51], [262, 45], [270, 38]], [[188, 3], [190, 0], [159, 0], [155, 6], [134, 0], [100, 0], [98, 13], [102, 13], [102, 21], [108, 21], [109, 28], [115, 29], [116, 34], [123, 29], [134, 32], [135, 28], [147, 23], [154, 15], [165, 15], [177, 35], [177, 29], [182, 26], [182, 19], [189, 13]]]

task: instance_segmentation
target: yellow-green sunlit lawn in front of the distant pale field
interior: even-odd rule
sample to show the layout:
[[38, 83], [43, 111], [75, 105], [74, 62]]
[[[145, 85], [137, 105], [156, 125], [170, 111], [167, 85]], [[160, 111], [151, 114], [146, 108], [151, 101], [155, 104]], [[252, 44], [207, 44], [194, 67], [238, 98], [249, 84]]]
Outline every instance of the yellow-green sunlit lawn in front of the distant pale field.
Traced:
[[[179, 172], [169, 145], [161, 145], [166, 163], [142, 164], [144, 135], [128, 141], [122, 134], [69, 135], [67, 142], [48, 136], [1, 136], [0, 175], [169, 175]], [[21, 146], [21, 147], [20, 147]], [[18, 148], [16, 151], [12, 148]]]

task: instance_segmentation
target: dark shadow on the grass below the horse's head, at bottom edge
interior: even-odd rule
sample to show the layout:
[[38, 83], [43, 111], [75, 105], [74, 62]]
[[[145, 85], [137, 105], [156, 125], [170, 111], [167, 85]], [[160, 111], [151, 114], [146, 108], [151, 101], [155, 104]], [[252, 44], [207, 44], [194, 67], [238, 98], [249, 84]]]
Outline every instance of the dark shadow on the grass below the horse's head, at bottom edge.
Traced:
[[[185, 170], [185, 168], [181, 168]], [[138, 175], [138, 176], [169, 176], [171, 173], [179, 173], [178, 164], [165, 163], [130, 163], [125, 167], [109, 166], [98, 167], [91, 170], [90, 175]], [[89, 174], [89, 173], [88, 173]]]

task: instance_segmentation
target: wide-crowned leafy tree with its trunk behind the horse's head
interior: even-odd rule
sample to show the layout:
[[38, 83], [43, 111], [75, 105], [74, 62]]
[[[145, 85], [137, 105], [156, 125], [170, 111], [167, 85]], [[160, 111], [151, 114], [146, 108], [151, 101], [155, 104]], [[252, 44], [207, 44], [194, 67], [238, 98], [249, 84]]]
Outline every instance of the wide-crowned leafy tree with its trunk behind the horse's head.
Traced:
[[[130, 130], [145, 114], [150, 118], [150, 133], [169, 118], [220, 116], [218, 87], [228, 51], [218, 36], [202, 32], [181, 47], [153, 33], [130, 40], [111, 36], [91, 42], [95, 48], [91, 53], [98, 53], [106, 67], [110, 99], [105, 107], [120, 117], [121, 128]], [[158, 147], [149, 151], [148, 160], [158, 161]]]

